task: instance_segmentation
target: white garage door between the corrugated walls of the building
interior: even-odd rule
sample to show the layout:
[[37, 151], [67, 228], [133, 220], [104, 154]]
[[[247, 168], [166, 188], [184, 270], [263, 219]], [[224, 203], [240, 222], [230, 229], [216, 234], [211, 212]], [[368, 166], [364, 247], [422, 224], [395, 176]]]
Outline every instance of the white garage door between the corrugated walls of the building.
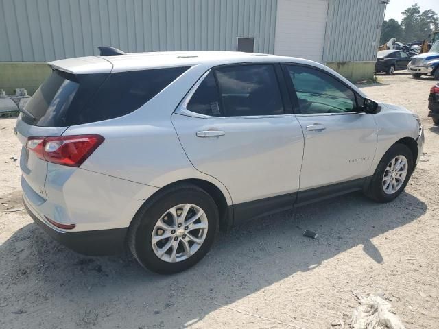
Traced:
[[278, 0], [274, 53], [322, 62], [329, 0]]

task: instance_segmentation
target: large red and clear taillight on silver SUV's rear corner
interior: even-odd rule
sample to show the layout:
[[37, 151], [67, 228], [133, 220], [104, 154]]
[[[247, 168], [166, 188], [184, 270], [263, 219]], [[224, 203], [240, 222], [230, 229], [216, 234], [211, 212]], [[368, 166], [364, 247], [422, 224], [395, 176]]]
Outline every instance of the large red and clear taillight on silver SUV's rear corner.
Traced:
[[48, 162], [80, 167], [103, 141], [100, 135], [29, 137], [26, 148]]

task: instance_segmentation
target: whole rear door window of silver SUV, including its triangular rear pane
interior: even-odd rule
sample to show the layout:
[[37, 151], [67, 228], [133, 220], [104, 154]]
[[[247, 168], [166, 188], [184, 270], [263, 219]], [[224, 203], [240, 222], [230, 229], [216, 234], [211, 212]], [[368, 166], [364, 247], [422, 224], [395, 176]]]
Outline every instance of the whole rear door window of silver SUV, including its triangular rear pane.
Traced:
[[186, 108], [212, 117], [285, 113], [274, 66], [270, 64], [213, 69], [195, 90]]

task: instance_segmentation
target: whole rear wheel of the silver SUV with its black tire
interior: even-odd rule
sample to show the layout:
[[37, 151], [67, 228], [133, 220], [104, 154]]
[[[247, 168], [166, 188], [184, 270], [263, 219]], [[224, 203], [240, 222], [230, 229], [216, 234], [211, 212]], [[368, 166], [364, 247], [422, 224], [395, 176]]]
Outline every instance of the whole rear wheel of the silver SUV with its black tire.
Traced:
[[[187, 217], [185, 217], [185, 223], [189, 223], [194, 215], [201, 214], [199, 210], [202, 210], [204, 215], [201, 215], [194, 223], [187, 224], [188, 226], [176, 227], [175, 217], [169, 210], [175, 207], [178, 215], [185, 205], [191, 206], [188, 206], [189, 211]], [[181, 208], [178, 208], [180, 206]], [[182, 212], [180, 212], [180, 215], [182, 216]], [[177, 218], [181, 219], [181, 216], [177, 216]], [[159, 221], [161, 223], [158, 223]], [[134, 216], [128, 230], [128, 247], [134, 258], [145, 269], [160, 274], [178, 273], [198, 263], [209, 252], [218, 223], [218, 209], [212, 197], [198, 186], [181, 184], [159, 192], [158, 195], [154, 195], [152, 199], [143, 204]], [[156, 224], [160, 226], [166, 224], [167, 227], [173, 227], [176, 230], [164, 230], [158, 228]], [[206, 226], [206, 228], [191, 230], [189, 227], [195, 225], [199, 227], [200, 224]], [[154, 236], [158, 237], [161, 234], [170, 234], [170, 237], [158, 239], [154, 243], [153, 233]], [[195, 243], [189, 236], [193, 239], [200, 238], [199, 240], [202, 243]], [[177, 246], [176, 255], [174, 255], [174, 245]], [[165, 248], [167, 249], [163, 255], [158, 256], [161, 249]], [[189, 254], [190, 256], [187, 256], [187, 250], [191, 250], [192, 254]]]

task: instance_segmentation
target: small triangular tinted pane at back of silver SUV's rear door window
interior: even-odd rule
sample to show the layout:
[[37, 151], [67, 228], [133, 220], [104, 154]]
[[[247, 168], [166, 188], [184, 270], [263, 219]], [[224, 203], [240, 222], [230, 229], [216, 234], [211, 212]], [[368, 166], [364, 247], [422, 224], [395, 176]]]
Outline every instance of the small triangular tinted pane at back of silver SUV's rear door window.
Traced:
[[195, 90], [186, 108], [191, 112], [213, 117], [222, 115], [219, 108], [217, 84], [212, 71], [204, 78], [197, 90]]

